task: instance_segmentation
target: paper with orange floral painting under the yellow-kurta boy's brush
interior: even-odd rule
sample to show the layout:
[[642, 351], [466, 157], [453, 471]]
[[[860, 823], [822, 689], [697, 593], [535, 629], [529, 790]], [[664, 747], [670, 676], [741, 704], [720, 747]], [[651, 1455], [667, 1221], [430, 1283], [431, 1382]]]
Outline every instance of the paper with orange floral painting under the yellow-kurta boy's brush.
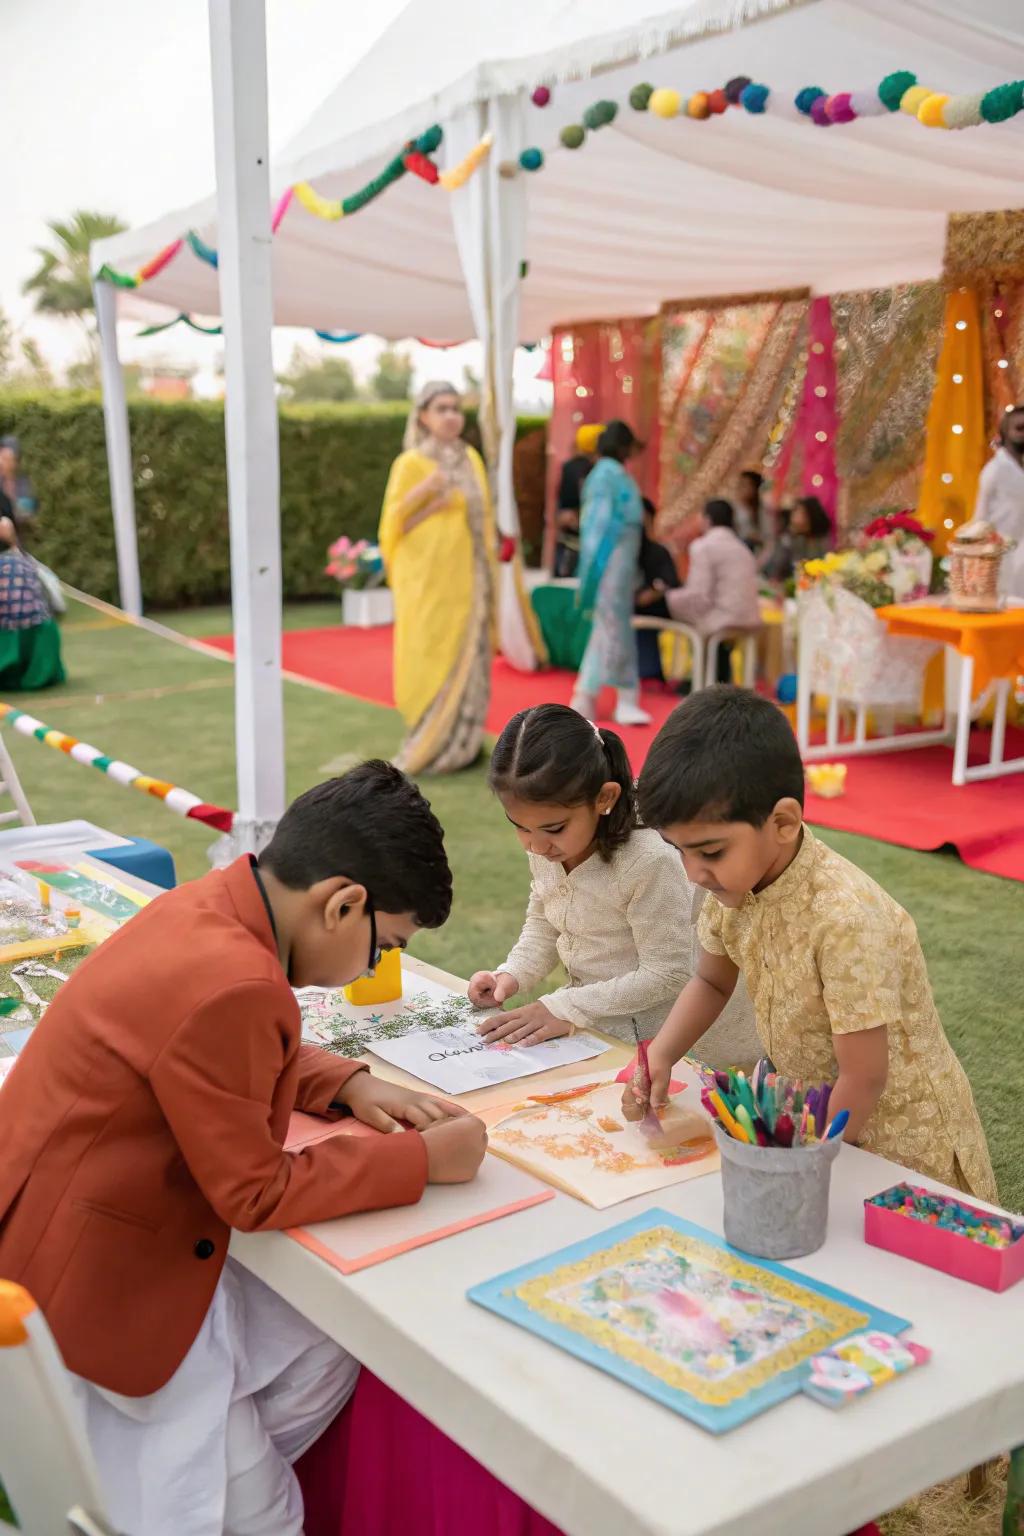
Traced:
[[671, 1132], [656, 1138], [625, 1118], [619, 1081], [602, 1077], [487, 1111], [484, 1120], [496, 1157], [603, 1210], [718, 1169], [703, 1115], [674, 1109]]

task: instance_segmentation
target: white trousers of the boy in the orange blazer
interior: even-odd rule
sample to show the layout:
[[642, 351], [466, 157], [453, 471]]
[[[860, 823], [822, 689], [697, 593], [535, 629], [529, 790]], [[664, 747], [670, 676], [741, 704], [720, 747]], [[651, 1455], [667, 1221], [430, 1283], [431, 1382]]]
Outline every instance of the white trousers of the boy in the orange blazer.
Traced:
[[72, 1376], [123, 1536], [302, 1536], [292, 1462], [358, 1362], [232, 1260], [170, 1381], [124, 1398]]

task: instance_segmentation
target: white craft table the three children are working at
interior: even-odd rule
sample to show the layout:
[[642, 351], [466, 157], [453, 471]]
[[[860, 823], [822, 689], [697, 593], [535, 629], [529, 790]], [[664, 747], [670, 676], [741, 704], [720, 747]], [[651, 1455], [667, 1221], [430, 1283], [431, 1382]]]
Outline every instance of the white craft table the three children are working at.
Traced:
[[567, 1536], [846, 1536], [1024, 1442], [1024, 1284], [996, 1296], [867, 1247], [864, 1197], [904, 1177], [843, 1147], [827, 1243], [794, 1267], [910, 1318], [932, 1362], [841, 1412], [794, 1398], [723, 1436], [465, 1299], [479, 1281], [654, 1206], [722, 1232], [715, 1175], [611, 1210], [559, 1193], [350, 1276], [281, 1233], [235, 1233], [232, 1253]]

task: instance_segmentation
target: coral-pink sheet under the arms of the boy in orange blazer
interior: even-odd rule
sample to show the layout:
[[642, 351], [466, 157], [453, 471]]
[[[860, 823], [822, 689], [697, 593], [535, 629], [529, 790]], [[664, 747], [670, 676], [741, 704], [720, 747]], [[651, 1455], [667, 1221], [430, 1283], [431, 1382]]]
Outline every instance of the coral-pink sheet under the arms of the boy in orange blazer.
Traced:
[[[289, 1152], [298, 1152], [329, 1137], [382, 1134], [359, 1120], [327, 1121], [295, 1114], [284, 1144]], [[393, 1132], [393, 1135], [402, 1134]], [[534, 1178], [497, 1158], [485, 1157], [476, 1178], [468, 1184], [428, 1184], [415, 1206], [364, 1210], [335, 1221], [318, 1221], [310, 1227], [292, 1227], [287, 1236], [342, 1275], [355, 1275], [372, 1264], [382, 1264], [385, 1260], [398, 1258], [399, 1253], [454, 1236], [485, 1221], [516, 1215], [548, 1200], [554, 1200], [554, 1190], [543, 1189]]]

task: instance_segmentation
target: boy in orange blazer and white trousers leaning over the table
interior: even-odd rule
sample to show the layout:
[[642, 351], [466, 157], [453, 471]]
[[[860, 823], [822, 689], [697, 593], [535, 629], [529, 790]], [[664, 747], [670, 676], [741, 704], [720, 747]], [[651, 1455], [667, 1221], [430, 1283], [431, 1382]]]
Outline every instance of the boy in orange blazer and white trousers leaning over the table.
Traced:
[[[481, 1123], [302, 1044], [293, 986], [341, 986], [451, 906], [416, 786], [364, 763], [259, 860], [160, 897], [61, 988], [3, 1087], [0, 1275], [41, 1306], [130, 1536], [301, 1536], [292, 1461], [358, 1366], [232, 1260], [273, 1230], [471, 1178]], [[282, 1150], [293, 1109], [376, 1138]]]

